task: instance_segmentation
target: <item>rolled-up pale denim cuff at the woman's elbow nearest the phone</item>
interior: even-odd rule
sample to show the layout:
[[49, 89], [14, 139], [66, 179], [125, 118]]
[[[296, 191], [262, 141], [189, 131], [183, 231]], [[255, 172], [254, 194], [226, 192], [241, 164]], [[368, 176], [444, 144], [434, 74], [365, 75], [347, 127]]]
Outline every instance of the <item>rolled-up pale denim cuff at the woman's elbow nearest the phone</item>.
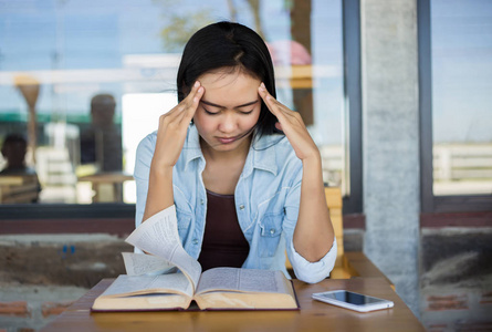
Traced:
[[334, 238], [329, 251], [318, 261], [311, 262], [295, 251], [294, 243], [291, 240], [289, 259], [297, 279], [307, 283], [316, 283], [327, 278], [335, 266], [336, 248], [336, 238]]

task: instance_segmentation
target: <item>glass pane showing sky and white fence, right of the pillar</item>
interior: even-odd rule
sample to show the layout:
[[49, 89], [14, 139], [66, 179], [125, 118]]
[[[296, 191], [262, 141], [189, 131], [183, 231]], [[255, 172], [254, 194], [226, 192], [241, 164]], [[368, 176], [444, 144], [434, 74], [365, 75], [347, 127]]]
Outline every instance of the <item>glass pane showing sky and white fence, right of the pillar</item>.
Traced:
[[492, 2], [432, 0], [433, 195], [492, 194]]

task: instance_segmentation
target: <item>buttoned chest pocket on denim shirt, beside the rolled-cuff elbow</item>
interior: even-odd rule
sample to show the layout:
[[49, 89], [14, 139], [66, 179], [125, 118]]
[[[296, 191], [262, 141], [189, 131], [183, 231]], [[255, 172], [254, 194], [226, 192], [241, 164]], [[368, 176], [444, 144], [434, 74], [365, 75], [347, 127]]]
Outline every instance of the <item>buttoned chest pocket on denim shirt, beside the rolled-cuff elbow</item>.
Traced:
[[282, 235], [284, 214], [266, 214], [260, 222], [260, 257], [273, 257]]

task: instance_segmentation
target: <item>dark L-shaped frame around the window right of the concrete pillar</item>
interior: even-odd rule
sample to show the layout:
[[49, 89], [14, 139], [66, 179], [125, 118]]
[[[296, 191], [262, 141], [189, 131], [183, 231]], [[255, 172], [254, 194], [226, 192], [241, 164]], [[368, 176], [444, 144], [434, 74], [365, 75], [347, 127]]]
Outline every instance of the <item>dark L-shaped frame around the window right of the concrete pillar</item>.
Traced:
[[492, 209], [491, 195], [433, 195], [432, 174], [432, 52], [431, 0], [417, 1], [419, 108], [420, 108], [420, 199], [422, 212], [470, 212]]

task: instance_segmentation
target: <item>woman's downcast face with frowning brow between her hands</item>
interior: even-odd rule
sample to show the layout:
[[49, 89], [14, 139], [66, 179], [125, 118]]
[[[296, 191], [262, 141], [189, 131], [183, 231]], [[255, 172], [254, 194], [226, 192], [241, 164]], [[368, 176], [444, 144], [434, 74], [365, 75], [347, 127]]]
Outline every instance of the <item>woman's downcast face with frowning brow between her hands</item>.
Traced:
[[260, 80], [241, 71], [201, 75], [205, 94], [193, 116], [207, 147], [217, 152], [248, 148], [261, 110]]

